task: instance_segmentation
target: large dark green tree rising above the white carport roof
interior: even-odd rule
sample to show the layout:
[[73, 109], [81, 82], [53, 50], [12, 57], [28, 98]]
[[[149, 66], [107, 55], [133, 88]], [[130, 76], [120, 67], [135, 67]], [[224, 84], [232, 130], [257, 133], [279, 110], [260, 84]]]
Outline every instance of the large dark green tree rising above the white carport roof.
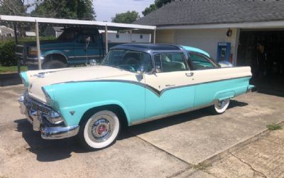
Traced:
[[31, 15], [86, 20], [96, 18], [92, 0], [45, 0], [35, 6]]

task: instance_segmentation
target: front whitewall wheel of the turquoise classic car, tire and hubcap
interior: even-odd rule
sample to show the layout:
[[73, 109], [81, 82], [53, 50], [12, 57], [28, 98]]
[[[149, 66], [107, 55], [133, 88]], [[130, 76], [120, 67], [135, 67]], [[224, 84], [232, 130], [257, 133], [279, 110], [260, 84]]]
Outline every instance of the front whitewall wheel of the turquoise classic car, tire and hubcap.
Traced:
[[102, 149], [116, 141], [120, 128], [119, 117], [114, 112], [102, 110], [80, 125], [79, 139], [87, 149]]

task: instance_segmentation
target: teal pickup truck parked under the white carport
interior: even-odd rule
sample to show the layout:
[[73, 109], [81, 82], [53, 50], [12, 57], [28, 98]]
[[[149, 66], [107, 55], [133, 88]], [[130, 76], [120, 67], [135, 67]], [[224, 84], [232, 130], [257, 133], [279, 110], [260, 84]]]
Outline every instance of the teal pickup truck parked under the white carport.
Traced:
[[[109, 47], [118, 43], [109, 43]], [[97, 28], [65, 28], [55, 41], [40, 41], [40, 60], [43, 69], [65, 68], [77, 64], [100, 62], [104, 57], [104, 43]], [[29, 68], [38, 67], [35, 42], [16, 47], [16, 56]]]

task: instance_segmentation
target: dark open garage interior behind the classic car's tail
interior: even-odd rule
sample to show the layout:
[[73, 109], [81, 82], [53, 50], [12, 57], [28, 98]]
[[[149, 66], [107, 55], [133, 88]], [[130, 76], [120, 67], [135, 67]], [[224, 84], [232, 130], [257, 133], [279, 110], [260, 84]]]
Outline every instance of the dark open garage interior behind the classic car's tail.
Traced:
[[236, 64], [251, 66], [259, 92], [284, 96], [284, 29], [241, 30]]

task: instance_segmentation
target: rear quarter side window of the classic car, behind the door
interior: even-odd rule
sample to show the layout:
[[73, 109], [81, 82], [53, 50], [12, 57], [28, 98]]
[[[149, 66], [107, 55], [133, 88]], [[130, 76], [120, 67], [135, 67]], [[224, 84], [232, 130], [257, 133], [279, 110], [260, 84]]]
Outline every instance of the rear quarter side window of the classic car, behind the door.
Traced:
[[190, 61], [194, 70], [204, 70], [216, 68], [205, 56], [196, 53], [190, 53]]

